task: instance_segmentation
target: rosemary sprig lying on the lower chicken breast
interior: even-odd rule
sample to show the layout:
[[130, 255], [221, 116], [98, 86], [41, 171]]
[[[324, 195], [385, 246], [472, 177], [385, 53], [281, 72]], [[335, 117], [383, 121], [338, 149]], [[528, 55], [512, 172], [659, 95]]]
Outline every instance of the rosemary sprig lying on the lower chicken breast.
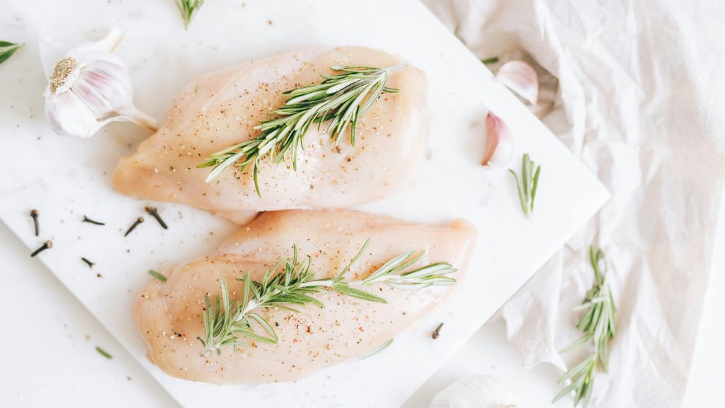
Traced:
[[[423, 252], [416, 254], [413, 251], [392, 258], [362, 280], [351, 282], [344, 280], [345, 274], [363, 255], [369, 244], [370, 240], [366, 240], [352, 261], [333, 278], [327, 280], [312, 279], [315, 276], [315, 272], [311, 269], [312, 258], [307, 256], [306, 261], [299, 261], [297, 246], [293, 247], [292, 258], [278, 261], [275, 266], [267, 270], [261, 282], [252, 280], [249, 273], [245, 274], [244, 278], [237, 279], [239, 282], [244, 282], [242, 298], [239, 300], [230, 298], [224, 280], [220, 279], [221, 295], [215, 296], [213, 303], [209, 293], [204, 296], [206, 306], [202, 312], [204, 338], [198, 338], [204, 346], [202, 356], [212, 351], [221, 354], [221, 348], [224, 346], [232, 346], [234, 351], [239, 346], [248, 346], [241, 340], [242, 338], [276, 344], [277, 334], [270, 322], [257, 312], [259, 309], [273, 307], [297, 312], [294, 306], [306, 304], [322, 308], [325, 307], [323, 303], [311, 295], [329, 290], [364, 301], [386, 303], [384, 298], [355, 286], [370, 286], [374, 282], [384, 282], [400, 289], [420, 289], [431, 285], [454, 285], [456, 282], [447, 276], [456, 269], [444, 262], [404, 272], [423, 256]], [[282, 269], [278, 272], [280, 266]]]

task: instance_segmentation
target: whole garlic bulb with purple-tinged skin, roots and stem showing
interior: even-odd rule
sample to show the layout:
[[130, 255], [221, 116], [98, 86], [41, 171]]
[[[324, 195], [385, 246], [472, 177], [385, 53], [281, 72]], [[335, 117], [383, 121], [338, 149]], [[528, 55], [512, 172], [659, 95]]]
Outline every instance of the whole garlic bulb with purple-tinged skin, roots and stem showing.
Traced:
[[91, 137], [113, 121], [131, 121], [155, 132], [156, 120], [133, 105], [128, 68], [112, 54], [123, 39], [114, 28], [106, 38], [70, 49], [56, 62], [45, 91], [45, 113], [55, 133]]

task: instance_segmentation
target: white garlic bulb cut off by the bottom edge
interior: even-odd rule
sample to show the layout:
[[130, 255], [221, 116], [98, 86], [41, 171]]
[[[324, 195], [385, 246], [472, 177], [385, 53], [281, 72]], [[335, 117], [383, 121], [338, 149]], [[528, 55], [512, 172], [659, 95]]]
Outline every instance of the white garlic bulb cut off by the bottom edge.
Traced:
[[430, 408], [523, 408], [523, 405], [498, 378], [468, 375], [439, 391]]

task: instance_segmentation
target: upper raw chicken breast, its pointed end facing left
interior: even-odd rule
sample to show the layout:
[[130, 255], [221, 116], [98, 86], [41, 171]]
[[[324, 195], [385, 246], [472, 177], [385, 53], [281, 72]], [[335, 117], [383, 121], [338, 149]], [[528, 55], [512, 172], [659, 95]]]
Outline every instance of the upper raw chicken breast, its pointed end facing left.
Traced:
[[[283, 91], [320, 83], [331, 65], [388, 68], [399, 57], [363, 47], [305, 49], [253, 61], [192, 81], [176, 97], [162, 128], [118, 163], [113, 184], [125, 195], [184, 203], [246, 220], [244, 212], [291, 208], [347, 208], [378, 200], [399, 189], [426, 152], [426, 78], [407, 67], [393, 73], [382, 94], [357, 124], [352, 147], [349, 130], [339, 146], [312, 126], [299, 152], [297, 171], [287, 163], [260, 161], [262, 197], [254, 190], [251, 166], [228, 168], [205, 183], [210, 168], [196, 168], [214, 152], [253, 139], [260, 121], [283, 105]], [[241, 211], [242, 214], [234, 213]]]

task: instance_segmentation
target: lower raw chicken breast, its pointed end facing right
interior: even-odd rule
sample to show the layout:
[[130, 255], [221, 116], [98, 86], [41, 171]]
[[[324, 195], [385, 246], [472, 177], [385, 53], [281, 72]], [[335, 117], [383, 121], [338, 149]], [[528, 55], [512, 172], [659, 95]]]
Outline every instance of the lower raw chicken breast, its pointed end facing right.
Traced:
[[[250, 272], [252, 280], [261, 280], [278, 258], [291, 256], [293, 244], [300, 256], [312, 256], [315, 278], [333, 277], [367, 238], [370, 246], [347, 280], [367, 277], [407, 250], [426, 250], [411, 269], [447, 261], [458, 269], [452, 275], [458, 282], [419, 290], [384, 283], [365, 287], [388, 303], [323, 292], [312, 296], [326, 305], [324, 309], [312, 304], [299, 307], [299, 313], [257, 309], [275, 327], [278, 344], [250, 340], [251, 346], [240, 347], [236, 354], [227, 346], [220, 356], [201, 356], [204, 346], [196, 337], [204, 338], [204, 294], [210, 293], [213, 300], [220, 293], [220, 277], [230, 297], [239, 299], [244, 284], [235, 278]], [[146, 340], [149, 359], [169, 375], [215, 384], [298, 380], [365, 354], [423, 319], [461, 285], [475, 240], [475, 229], [462, 220], [434, 227], [355, 211], [262, 213], [229, 237], [215, 256], [166, 271], [166, 282], [151, 282], [136, 301], [136, 324]]]

